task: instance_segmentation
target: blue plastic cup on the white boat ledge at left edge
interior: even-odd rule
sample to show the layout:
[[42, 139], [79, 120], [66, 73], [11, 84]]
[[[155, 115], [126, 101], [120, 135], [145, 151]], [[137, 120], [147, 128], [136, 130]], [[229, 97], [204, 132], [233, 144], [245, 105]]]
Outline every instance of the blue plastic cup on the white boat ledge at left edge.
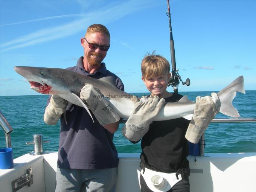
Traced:
[[0, 169], [11, 169], [13, 167], [12, 148], [0, 149]]

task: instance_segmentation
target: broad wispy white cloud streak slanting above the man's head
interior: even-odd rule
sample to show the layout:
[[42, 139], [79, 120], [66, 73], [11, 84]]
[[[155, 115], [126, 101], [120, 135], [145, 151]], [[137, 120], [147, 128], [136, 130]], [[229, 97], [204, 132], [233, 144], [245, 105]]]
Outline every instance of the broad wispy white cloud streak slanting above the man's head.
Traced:
[[[111, 23], [124, 17], [125, 15], [131, 14], [141, 9], [148, 8], [148, 6], [156, 6], [157, 4], [153, 2], [148, 3], [147, 1], [128, 1], [124, 3], [119, 3], [116, 6], [113, 5], [114, 4], [107, 5], [97, 11], [84, 14], [84, 17], [82, 19], [75, 20], [70, 23], [59, 25], [56, 27], [47, 27], [41, 30], [37, 30], [22, 37], [18, 37], [12, 41], [3, 43], [0, 45], [0, 47], [2, 48], [1, 52], [32, 46], [34, 44], [40, 44], [59, 38], [64, 38], [84, 31], [84, 26], [88, 26], [91, 23], [99, 23], [99, 21], [103, 24]], [[44, 19], [50, 18], [53, 17], [47, 17]]]

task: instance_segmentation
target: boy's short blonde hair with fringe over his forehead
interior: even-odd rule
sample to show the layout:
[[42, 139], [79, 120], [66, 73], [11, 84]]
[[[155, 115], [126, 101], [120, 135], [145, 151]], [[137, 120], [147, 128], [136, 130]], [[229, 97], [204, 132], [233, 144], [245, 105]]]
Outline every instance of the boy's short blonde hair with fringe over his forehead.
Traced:
[[165, 76], [170, 72], [170, 64], [160, 55], [146, 55], [141, 62], [142, 76], [150, 79], [153, 76]]

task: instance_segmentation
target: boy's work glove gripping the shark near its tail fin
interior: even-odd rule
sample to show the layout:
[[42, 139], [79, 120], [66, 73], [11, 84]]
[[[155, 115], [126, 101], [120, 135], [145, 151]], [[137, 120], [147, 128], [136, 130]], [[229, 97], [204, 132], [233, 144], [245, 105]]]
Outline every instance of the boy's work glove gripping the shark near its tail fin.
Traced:
[[186, 139], [191, 143], [198, 143], [201, 135], [206, 130], [211, 120], [219, 112], [221, 103], [216, 93], [210, 96], [198, 96], [195, 102], [194, 116], [189, 123]]

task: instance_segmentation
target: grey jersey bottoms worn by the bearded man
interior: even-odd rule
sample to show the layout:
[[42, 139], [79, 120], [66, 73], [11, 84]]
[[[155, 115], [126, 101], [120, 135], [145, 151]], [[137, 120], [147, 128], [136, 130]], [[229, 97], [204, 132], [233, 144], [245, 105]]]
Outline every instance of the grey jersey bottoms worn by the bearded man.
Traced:
[[55, 192], [115, 192], [117, 168], [59, 169]]

